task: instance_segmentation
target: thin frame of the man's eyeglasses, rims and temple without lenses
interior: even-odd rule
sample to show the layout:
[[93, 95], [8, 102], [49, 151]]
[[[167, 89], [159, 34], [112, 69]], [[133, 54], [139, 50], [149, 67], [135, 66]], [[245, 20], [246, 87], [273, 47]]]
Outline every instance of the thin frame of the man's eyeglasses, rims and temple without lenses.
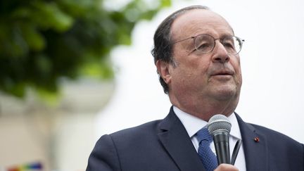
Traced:
[[[177, 42], [174, 42], [174, 43], [172, 43], [172, 45], [177, 44], [177, 43], [179, 43], [179, 42], [183, 42], [183, 41], [185, 41], [185, 40], [187, 40], [187, 39], [194, 39], [194, 50], [191, 51], [190, 53], [192, 53], [192, 52], [194, 52], [194, 51], [199, 51], [198, 49], [196, 49], [195, 41], [196, 41], [196, 37], [199, 37], [199, 36], [201, 36], [201, 35], [208, 35], [208, 36], [212, 37], [213, 40], [214, 40], [213, 48], [212, 48], [210, 51], [208, 51], [208, 52], [200, 51], [201, 53], [210, 53], [211, 51], [213, 51], [213, 49], [215, 48], [215, 45], [216, 45], [216, 42], [215, 42], [216, 40], [220, 40], [220, 43], [222, 44], [223, 40], [226, 39], [227, 37], [236, 37], [236, 36], [232, 35], [232, 36], [225, 36], [225, 37], [222, 38], [222, 39], [221, 39], [221, 38], [215, 39], [215, 37], [211, 36], [210, 34], [198, 34], [198, 35], [196, 35], [196, 36], [188, 37], [188, 38], [186, 38], [186, 39], [182, 39], [182, 40], [179, 40], [179, 41], [177, 41]], [[241, 51], [241, 49], [242, 49], [242, 47], [243, 47], [243, 42], [245, 42], [245, 39], [241, 39], [241, 38], [239, 38], [239, 37], [236, 37], [236, 39], [239, 39], [239, 40], [241, 41], [241, 47], [240, 47], [239, 51], [238, 51], [237, 53], [229, 53], [229, 52], [227, 51], [228, 54], [237, 55], [237, 54], [240, 53], [240, 51]], [[189, 53], [189, 54], [190, 54], [190, 53]]]

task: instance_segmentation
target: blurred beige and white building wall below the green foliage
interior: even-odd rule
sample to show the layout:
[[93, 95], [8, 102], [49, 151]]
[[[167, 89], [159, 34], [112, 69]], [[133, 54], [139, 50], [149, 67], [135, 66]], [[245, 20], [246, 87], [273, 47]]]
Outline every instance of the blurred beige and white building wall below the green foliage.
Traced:
[[32, 92], [25, 99], [0, 94], [0, 168], [41, 162], [44, 170], [85, 170], [96, 142], [96, 113], [113, 82], [65, 82], [56, 105]]

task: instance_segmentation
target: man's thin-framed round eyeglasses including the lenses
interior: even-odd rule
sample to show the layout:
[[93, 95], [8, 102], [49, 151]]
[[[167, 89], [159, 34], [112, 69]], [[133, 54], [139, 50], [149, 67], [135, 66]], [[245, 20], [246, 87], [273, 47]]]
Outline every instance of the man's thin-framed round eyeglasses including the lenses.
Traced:
[[[217, 40], [209, 34], [198, 34], [195, 37], [182, 39], [173, 44], [182, 42], [187, 39], [194, 39], [194, 51], [200, 51], [202, 53], [209, 53], [210, 51], [213, 51], [215, 47], [215, 41]], [[241, 51], [243, 42], [245, 42], [245, 40], [240, 39], [236, 36], [227, 36], [219, 40], [220, 43], [224, 46], [224, 49], [226, 49], [227, 53], [232, 55], [238, 54]]]

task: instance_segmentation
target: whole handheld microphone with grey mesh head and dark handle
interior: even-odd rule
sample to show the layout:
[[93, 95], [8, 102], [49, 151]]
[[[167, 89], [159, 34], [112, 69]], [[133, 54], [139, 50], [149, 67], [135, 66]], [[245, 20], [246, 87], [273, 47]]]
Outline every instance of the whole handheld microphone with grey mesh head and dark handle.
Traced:
[[229, 150], [229, 132], [231, 130], [231, 123], [224, 115], [213, 115], [208, 122], [208, 131], [213, 135], [213, 142], [215, 144], [215, 151], [217, 154], [217, 163], [230, 163]]

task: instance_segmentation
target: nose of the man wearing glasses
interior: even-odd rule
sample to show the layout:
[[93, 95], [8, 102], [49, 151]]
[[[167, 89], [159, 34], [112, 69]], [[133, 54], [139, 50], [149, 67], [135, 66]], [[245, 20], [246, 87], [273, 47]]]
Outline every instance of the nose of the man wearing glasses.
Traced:
[[213, 53], [212, 61], [214, 63], [227, 63], [230, 60], [224, 45], [222, 45], [219, 40], [215, 42], [215, 49], [213, 49]]

